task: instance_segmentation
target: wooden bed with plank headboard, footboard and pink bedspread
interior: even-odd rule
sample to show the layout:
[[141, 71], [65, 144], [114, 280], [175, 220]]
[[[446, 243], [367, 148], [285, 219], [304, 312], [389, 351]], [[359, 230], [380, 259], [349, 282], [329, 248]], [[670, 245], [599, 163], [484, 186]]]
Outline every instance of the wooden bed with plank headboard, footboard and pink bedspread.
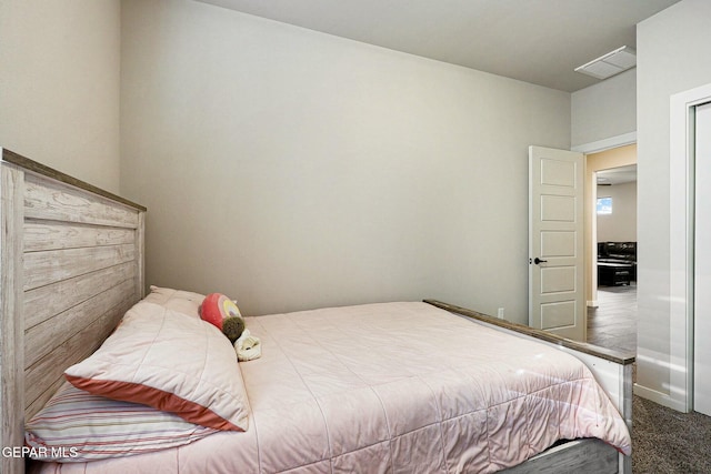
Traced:
[[[66, 387], [64, 371], [94, 353], [123, 314], [112, 337], [140, 309], [166, 321], [200, 320], [151, 302], [152, 293], [143, 300], [144, 208], [7, 150], [2, 157], [2, 472], [21, 473], [27, 458], [13, 448], [24, 445], [26, 421]], [[243, 432], [217, 430], [181, 446], [116, 460], [33, 462], [30, 471], [156, 472], [158, 463], [163, 472], [182, 473], [352, 472], [353, 466], [360, 472], [631, 472], [631, 456], [623, 454], [630, 453], [631, 355], [430, 300], [247, 322], [262, 339], [263, 356], [239, 364]], [[500, 345], [473, 350], [490, 341]], [[510, 347], [521, 355], [507, 362]], [[563, 361], [559, 372], [549, 372], [552, 360]], [[484, 364], [492, 361], [493, 366]], [[339, 375], [326, 374], [327, 367]], [[560, 371], [571, 380], [559, 379]], [[538, 376], [513, 393], [477, 382], [482, 373], [484, 380]], [[551, 380], [558, 389], [538, 385]], [[472, 385], [480, 395], [471, 396]], [[553, 402], [540, 395], [551, 391]], [[592, 405], [571, 410], [561, 392]], [[479, 405], [483, 399], [491, 403]], [[297, 414], [297, 405], [306, 410]], [[527, 406], [538, 406], [535, 415]], [[524, 423], [560, 418], [564, 411], [580, 411], [582, 418], [567, 427]], [[509, 416], [494, 418], [494, 412]], [[487, 450], [472, 441], [475, 420], [501, 433], [484, 442]], [[573, 441], [555, 442], [560, 434]], [[472, 454], [477, 450], [487, 451], [484, 464]], [[220, 451], [231, 456], [220, 457]]]

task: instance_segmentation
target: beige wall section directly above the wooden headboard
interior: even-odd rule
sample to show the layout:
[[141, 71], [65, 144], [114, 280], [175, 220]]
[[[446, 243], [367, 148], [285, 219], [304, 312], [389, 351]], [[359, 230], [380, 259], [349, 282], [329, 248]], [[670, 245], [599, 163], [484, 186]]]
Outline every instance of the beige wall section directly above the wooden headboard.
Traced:
[[0, 147], [119, 190], [119, 0], [0, 2]]

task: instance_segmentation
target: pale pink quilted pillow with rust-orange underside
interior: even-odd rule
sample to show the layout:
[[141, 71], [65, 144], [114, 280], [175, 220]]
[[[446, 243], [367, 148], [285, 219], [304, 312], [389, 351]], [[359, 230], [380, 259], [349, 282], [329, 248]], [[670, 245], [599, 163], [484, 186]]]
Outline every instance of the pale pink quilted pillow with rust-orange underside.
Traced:
[[64, 375], [94, 395], [216, 430], [248, 428], [247, 393], [230, 341], [199, 317], [153, 303], [136, 304], [103, 345]]

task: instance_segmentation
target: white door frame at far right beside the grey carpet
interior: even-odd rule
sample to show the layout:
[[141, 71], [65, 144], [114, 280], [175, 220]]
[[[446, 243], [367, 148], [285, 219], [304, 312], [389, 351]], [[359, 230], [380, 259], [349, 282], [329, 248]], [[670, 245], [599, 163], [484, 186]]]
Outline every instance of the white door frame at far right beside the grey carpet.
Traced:
[[711, 84], [670, 98], [669, 272], [671, 407], [693, 410], [694, 115]]

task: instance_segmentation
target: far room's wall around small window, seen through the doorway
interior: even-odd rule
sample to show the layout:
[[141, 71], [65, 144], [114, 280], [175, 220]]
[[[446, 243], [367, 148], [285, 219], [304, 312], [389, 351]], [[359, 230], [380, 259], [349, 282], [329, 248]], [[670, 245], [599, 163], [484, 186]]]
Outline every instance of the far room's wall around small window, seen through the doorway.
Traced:
[[637, 182], [598, 186], [612, 198], [612, 214], [598, 214], [598, 242], [637, 242]]

